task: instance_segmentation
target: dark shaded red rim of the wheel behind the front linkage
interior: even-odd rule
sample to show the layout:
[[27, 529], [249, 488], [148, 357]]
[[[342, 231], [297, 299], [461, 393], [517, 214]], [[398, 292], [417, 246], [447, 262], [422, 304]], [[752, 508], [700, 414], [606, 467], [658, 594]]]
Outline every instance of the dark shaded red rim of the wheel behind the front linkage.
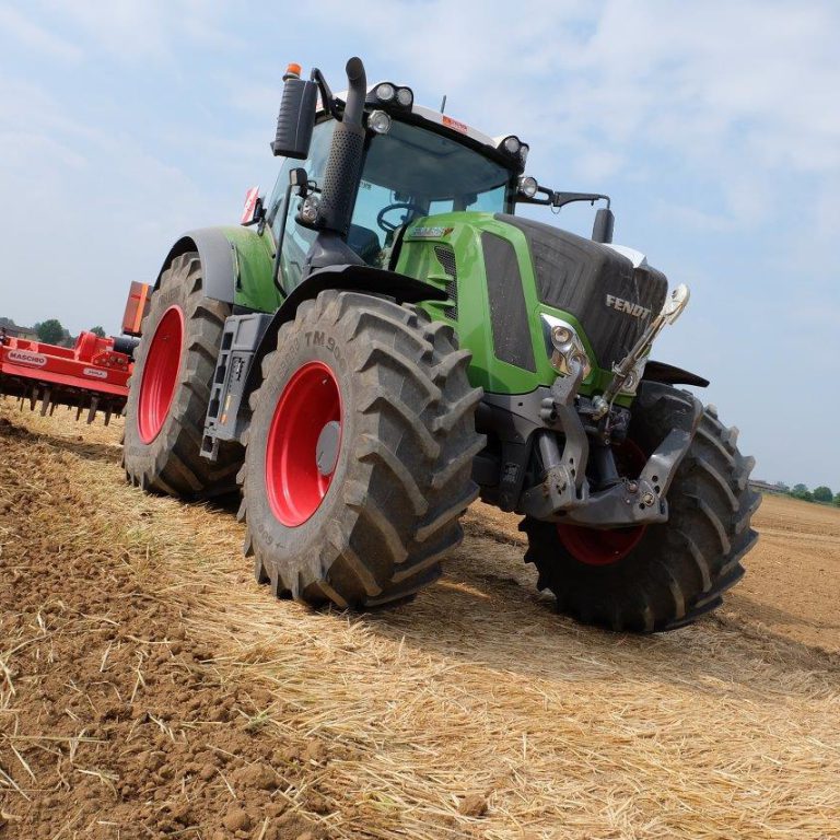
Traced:
[[[615, 450], [616, 466], [621, 476], [635, 478], [648, 458], [632, 441], [625, 440]], [[558, 524], [560, 542], [575, 560], [586, 565], [611, 565], [623, 560], [641, 541], [646, 525], [630, 528], [587, 528], [583, 525]]]

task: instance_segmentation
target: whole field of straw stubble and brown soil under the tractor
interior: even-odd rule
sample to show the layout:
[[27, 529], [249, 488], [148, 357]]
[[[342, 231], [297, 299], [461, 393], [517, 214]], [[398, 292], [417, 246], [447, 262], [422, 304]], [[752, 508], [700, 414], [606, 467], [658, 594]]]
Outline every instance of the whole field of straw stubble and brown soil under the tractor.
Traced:
[[0, 399], [3, 840], [840, 838], [840, 511], [767, 498], [665, 635], [557, 616], [480, 504], [412, 603], [313, 612], [120, 433]]

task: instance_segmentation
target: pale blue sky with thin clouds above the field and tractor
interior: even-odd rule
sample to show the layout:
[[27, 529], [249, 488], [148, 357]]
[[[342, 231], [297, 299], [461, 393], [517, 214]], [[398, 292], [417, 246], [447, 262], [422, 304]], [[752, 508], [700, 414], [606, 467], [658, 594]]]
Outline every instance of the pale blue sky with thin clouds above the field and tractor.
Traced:
[[116, 330], [172, 241], [270, 188], [287, 62], [340, 89], [358, 54], [611, 195], [692, 290], [654, 355], [712, 380], [757, 476], [840, 490], [838, 40], [833, 0], [0, 0], [0, 314]]

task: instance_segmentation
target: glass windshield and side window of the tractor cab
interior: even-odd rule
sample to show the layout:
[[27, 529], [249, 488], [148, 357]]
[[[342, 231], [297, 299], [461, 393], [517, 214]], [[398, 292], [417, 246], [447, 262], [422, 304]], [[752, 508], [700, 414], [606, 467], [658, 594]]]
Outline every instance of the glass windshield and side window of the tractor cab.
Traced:
[[[315, 127], [310, 159], [285, 162], [269, 202], [276, 232], [285, 218], [281, 265], [287, 290], [300, 282], [316, 235], [295, 223], [296, 198], [283, 206], [289, 170], [302, 165], [322, 184], [334, 128], [331, 119]], [[369, 137], [348, 245], [369, 265], [385, 268], [395, 232], [413, 219], [454, 210], [510, 212], [512, 177], [510, 170], [462, 143], [395, 119], [387, 133]]]

